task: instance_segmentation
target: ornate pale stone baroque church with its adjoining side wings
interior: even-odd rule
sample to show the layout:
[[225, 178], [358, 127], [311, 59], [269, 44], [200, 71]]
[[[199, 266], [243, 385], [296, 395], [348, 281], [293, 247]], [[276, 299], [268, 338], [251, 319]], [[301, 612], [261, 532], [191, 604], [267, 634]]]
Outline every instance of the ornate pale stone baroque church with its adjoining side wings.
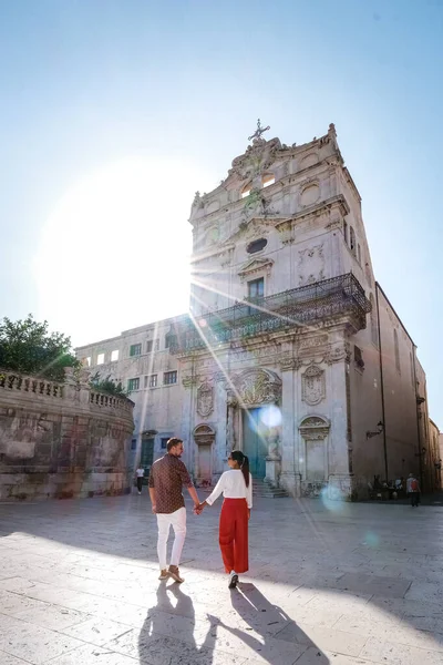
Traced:
[[434, 460], [416, 347], [375, 282], [334, 125], [303, 145], [258, 129], [197, 193], [189, 310], [76, 349], [135, 401], [133, 460], [171, 436], [199, 484], [241, 449], [293, 497], [364, 498]]

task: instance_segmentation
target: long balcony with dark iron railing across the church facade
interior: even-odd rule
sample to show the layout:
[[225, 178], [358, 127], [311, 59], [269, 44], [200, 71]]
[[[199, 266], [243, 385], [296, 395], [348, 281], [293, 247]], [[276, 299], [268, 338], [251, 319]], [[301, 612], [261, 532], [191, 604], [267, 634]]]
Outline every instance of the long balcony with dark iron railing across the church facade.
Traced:
[[206, 346], [215, 349], [261, 334], [303, 329], [318, 323], [328, 325], [343, 318], [357, 331], [365, 328], [369, 311], [371, 304], [362, 286], [348, 273], [266, 298], [237, 301], [195, 321], [187, 316], [171, 336], [169, 349], [181, 355]]

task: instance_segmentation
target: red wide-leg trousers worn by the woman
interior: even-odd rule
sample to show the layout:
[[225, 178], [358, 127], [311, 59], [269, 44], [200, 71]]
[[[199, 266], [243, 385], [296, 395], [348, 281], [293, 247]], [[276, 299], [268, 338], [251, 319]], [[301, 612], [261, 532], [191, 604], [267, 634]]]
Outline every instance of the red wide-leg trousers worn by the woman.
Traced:
[[248, 504], [246, 499], [225, 499], [220, 512], [219, 540], [225, 571], [248, 571]]

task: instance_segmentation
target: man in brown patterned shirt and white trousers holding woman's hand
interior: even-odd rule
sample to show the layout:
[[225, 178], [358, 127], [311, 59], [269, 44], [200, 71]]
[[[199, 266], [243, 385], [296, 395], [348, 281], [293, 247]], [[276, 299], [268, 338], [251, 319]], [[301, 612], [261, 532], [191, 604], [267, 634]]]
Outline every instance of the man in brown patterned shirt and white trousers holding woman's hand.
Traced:
[[[184, 582], [178, 570], [186, 536], [186, 508], [182, 493], [183, 485], [189, 492], [195, 507], [199, 505], [199, 499], [189, 473], [179, 459], [184, 450], [182, 439], [177, 437], [169, 439], [166, 450], [166, 454], [151, 467], [148, 480], [152, 511], [157, 515], [157, 554], [161, 571], [158, 580], [173, 577], [176, 582]], [[167, 567], [167, 539], [171, 525], [175, 535], [171, 565]]]

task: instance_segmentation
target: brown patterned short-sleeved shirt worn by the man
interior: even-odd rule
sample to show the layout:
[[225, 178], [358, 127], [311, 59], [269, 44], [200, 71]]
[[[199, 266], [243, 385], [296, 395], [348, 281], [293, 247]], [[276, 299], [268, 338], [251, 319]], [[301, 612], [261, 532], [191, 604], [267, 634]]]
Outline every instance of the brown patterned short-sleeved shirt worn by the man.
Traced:
[[192, 488], [194, 483], [182, 460], [166, 453], [151, 467], [148, 485], [155, 490], [156, 512], [173, 513], [185, 505], [182, 487]]

